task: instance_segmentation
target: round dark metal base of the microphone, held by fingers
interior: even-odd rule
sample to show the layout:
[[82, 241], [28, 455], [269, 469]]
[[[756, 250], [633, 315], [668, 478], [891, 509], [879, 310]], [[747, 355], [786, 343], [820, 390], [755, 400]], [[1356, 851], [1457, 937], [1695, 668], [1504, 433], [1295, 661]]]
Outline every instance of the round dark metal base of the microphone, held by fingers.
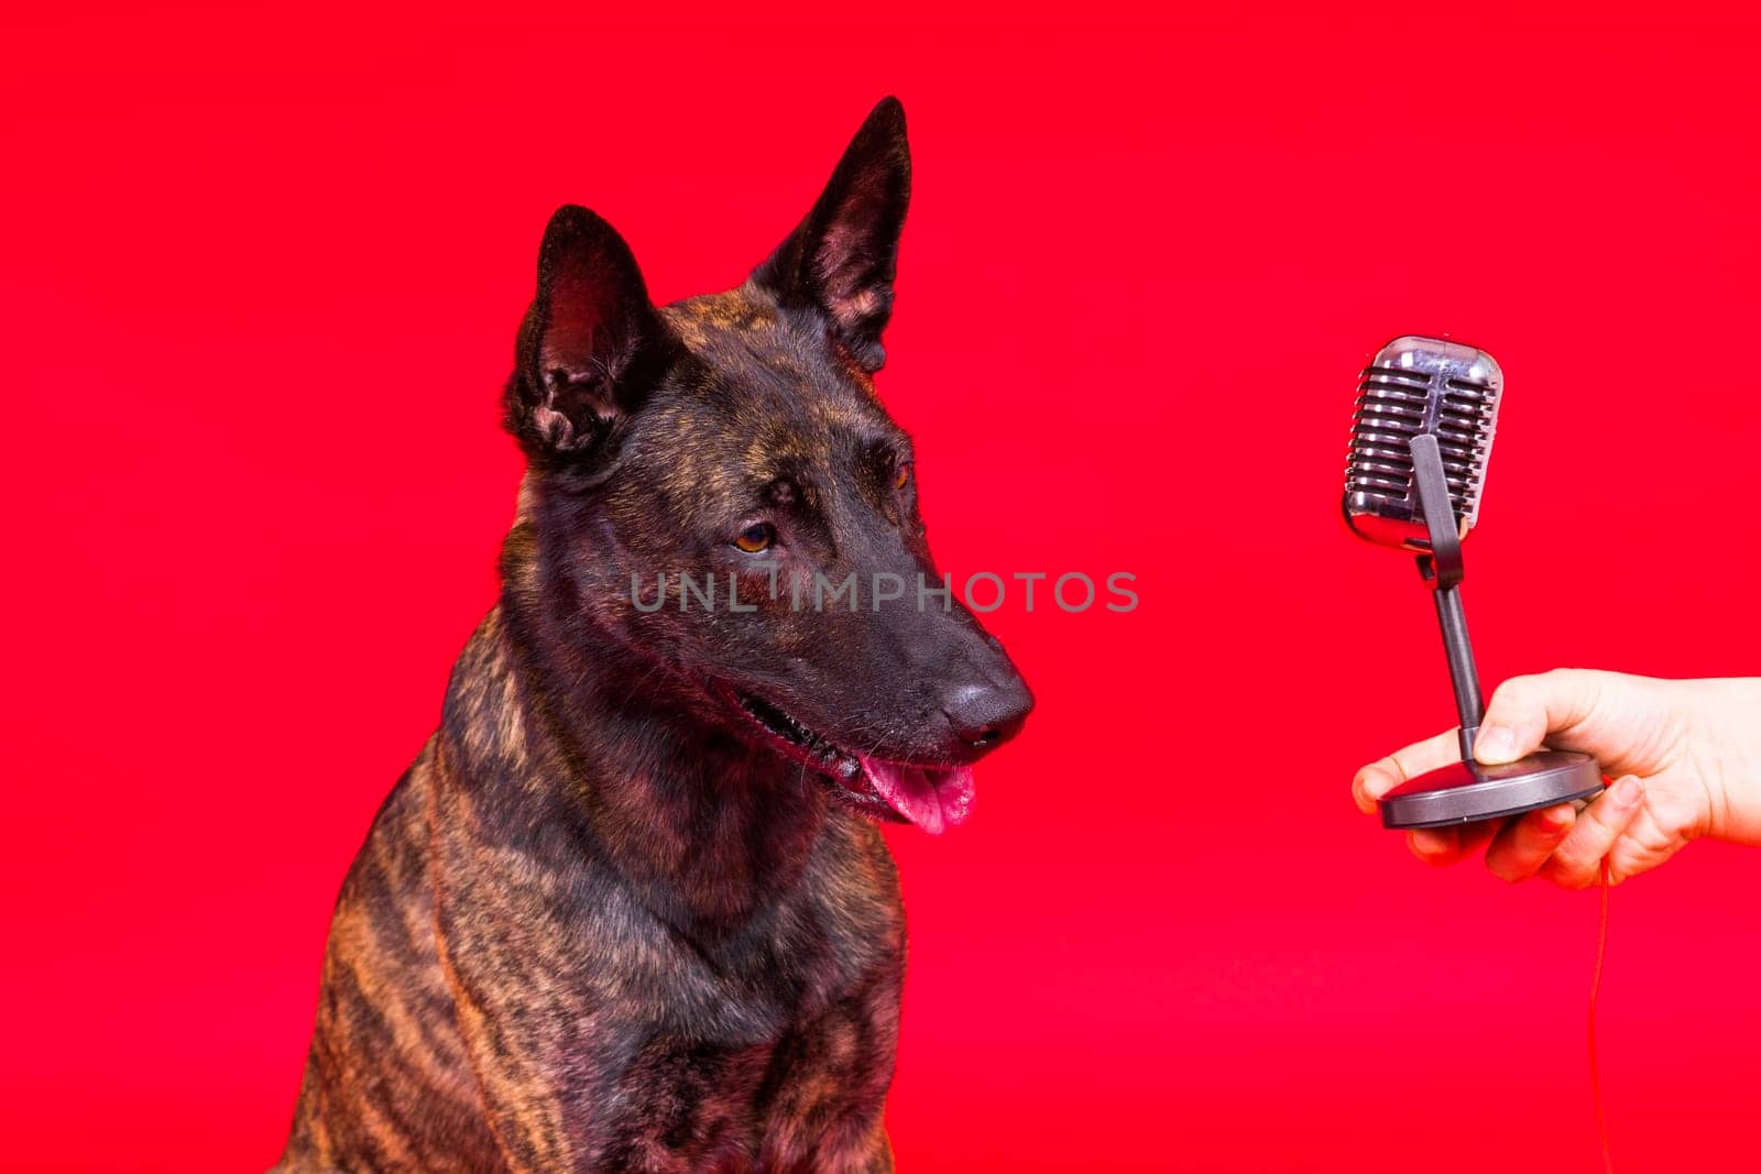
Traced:
[[1603, 767], [1587, 753], [1543, 750], [1504, 766], [1451, 762], [1409, 778], [1386, 796], [1382, 827], [1453, 827], [1594, 799]]

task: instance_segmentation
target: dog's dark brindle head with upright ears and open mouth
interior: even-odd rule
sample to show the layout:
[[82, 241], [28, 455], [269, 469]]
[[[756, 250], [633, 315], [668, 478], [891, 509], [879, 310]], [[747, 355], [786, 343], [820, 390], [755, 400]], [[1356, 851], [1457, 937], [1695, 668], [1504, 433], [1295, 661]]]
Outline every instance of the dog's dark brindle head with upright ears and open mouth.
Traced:
[[888, 99], [745, 285], [664, 308], [611, 225], [560, 209], [507, 422], [544, 591], [583, 630], [648, 657], [645, 688], [933, 833], [1032, 697], [933, 570], [872, 382], [909, 194]]

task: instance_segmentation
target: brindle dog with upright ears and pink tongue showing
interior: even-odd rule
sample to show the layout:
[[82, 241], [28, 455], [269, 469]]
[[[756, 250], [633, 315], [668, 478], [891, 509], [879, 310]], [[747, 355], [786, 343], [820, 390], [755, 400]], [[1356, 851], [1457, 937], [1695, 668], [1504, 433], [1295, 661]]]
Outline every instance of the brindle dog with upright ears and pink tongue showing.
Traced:
[[738, 289], [655, 306], [551, 218], [500, 602], [343, 882], [278, 1170], [893, 1169], [879, 822], [962, 822], [1032, 708], [873, 387], [909, 195], [888, 99]]

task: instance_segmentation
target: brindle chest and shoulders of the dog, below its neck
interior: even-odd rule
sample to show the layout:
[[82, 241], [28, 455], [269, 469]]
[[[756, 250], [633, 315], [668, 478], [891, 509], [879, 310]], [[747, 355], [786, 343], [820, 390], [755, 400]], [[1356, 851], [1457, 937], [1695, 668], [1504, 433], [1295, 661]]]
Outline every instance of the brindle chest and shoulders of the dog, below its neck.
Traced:
[[285, 1167], [889, 1169], [879, 831], [768, 762], [595, 780], [521, 660], [491, 614], [345, 882]]

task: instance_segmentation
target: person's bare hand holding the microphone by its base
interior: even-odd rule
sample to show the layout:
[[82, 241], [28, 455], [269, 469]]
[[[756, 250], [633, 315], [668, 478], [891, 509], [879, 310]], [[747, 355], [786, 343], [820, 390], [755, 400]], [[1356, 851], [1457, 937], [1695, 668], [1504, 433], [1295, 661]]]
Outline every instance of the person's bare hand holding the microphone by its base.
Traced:
[[[1761, 845], [1761, 679], [1661, 681], [1557, 669], [1511, 678], [1492, 695], [1474, 757], [1493, 766], [1541, 750], [1581, 750], [1613, 785], [1581, 813], [1558, 804], [1509, 820], [1407, 833], [1414, 855], [1451, 864], [1486, 848], [1504, 880], [1567, 889], [1657, 868], [1689, 840]], [[1460, 757], [1455, 730], [1396, 750], [1352, 780], [1365, 813], [1416, 774]]]

